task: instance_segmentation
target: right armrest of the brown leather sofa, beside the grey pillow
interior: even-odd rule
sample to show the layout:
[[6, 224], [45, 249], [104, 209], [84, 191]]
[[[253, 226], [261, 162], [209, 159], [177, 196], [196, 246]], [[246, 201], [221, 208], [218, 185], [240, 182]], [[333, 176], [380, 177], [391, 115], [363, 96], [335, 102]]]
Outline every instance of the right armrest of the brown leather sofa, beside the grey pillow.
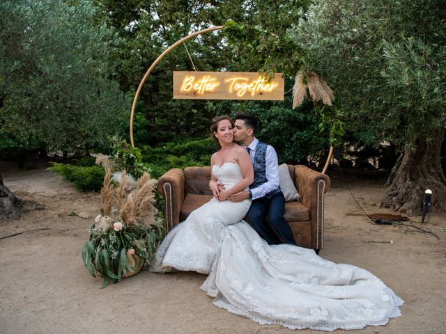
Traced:
[[324, 193], [330, 189], [330, 177], [303, 165], [295, 166], [294, 175], [300, 202], [309, 209], [312, 220], [312, 248], [321, 249], [323, 248]]

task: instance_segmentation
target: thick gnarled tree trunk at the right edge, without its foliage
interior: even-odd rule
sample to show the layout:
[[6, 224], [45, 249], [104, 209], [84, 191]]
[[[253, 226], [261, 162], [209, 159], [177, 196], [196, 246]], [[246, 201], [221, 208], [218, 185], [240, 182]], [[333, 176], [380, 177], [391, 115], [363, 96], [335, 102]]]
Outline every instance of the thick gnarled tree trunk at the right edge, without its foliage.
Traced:
[[420, 214], [424, 191], [431, 189], [432, 211], [446, 211], [446, 177], [441, 166], [445, 130], [433, 134], [431, 142], [418, 141], [415, 152], [406, 148], [392, 169], [382, 205], [410, 216]]

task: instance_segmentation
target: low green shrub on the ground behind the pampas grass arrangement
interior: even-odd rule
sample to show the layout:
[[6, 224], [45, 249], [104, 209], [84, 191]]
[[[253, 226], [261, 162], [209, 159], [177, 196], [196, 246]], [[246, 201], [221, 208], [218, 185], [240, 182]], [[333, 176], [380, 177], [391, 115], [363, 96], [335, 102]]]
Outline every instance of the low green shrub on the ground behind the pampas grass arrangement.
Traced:
[[77, 190], [80, 191], [100, 191], [105, 176], [105, 170], [101, 166], [72, 166], [51, 162], [53, 170], [62, 175], [63, 180], [72, 182]]

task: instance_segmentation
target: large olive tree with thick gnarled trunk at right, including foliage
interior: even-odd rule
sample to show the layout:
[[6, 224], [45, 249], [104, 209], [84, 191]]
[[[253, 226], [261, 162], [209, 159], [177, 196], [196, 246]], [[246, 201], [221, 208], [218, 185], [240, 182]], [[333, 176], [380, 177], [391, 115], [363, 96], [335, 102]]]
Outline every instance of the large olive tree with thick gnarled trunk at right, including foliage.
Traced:
[[335, 95], [333, 120], [367, 124], [375, 143], [390, 141], [401, 157], [383, 205], [420, 211], [425, 189], [446, 209], [440, 150], [446, 125], [446, 12], [432, 1], [314, 1], [290, 30], [305, 49], [302, 71], [314, 70]]

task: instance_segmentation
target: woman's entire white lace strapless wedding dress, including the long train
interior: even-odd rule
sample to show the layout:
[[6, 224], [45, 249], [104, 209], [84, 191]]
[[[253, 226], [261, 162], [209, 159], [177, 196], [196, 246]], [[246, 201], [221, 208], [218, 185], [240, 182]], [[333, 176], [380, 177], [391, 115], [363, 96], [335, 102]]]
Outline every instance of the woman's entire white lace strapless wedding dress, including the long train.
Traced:
[[[229, 188], [238, 164], [213, 166]], [[269, 246], [243, 217], [250, 201], [213, 198], [164, 239], [151, 271], [209, 273], [201, 286], [213, 303], [260, 324], [334, 331], [383, 325], [403, 301], [367, 270], [323, 260], [314, 250]]]

